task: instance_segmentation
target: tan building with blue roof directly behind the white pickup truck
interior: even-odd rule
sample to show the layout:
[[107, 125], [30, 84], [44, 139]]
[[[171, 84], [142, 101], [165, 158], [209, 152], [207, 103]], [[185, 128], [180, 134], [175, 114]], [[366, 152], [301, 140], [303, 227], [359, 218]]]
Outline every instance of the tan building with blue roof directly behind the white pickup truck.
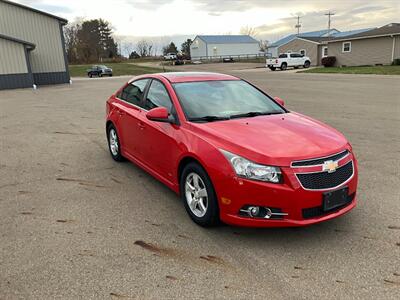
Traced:
[[327, 41], [336, 37], [345, 37], [370, 29], [358, 29], [340, 32], [337, 29], [304, 32], [300, 35], [289, 35], [268, 47], [267, 52], [272, 56], [279, 53], [296, 52], [310, 57], [311, 65], [320, 65], [321, 58], [327, 56]]

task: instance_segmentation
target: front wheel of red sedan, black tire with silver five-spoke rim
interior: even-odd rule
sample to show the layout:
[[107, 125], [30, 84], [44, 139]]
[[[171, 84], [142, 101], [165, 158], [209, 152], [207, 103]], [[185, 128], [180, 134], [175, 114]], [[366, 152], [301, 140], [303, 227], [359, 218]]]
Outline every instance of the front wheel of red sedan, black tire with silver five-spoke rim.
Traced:
[[219, 224], [217, 196], [209, 176], [199, 164], [189, 163], [183, 169], [180, 193], [193, 222], [203, 227]]

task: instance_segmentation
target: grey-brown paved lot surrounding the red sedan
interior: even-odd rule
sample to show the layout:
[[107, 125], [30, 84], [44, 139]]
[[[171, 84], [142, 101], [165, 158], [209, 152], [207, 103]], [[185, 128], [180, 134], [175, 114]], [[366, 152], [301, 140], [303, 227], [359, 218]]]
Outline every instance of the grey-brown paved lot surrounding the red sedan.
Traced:
[[204, 229], [111, 159], [104, 104], [127, 78], [0, 91], [0, 299], [398, 299], [400, 77], [237, 66], [190, 68], [243, 77], [342, 131], [356, 209], [305, 228]]

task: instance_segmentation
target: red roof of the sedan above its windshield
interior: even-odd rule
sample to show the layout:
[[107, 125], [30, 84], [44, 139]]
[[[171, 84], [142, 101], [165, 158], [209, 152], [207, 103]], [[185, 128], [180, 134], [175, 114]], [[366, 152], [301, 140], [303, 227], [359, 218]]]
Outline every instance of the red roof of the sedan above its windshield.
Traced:
[[154, 74], [162, 76], [171, 83], [194, 82], [194, 81], [215, 81], [215, 80], [240, 80], [240, 78], [211, 72], [168, 72]]

